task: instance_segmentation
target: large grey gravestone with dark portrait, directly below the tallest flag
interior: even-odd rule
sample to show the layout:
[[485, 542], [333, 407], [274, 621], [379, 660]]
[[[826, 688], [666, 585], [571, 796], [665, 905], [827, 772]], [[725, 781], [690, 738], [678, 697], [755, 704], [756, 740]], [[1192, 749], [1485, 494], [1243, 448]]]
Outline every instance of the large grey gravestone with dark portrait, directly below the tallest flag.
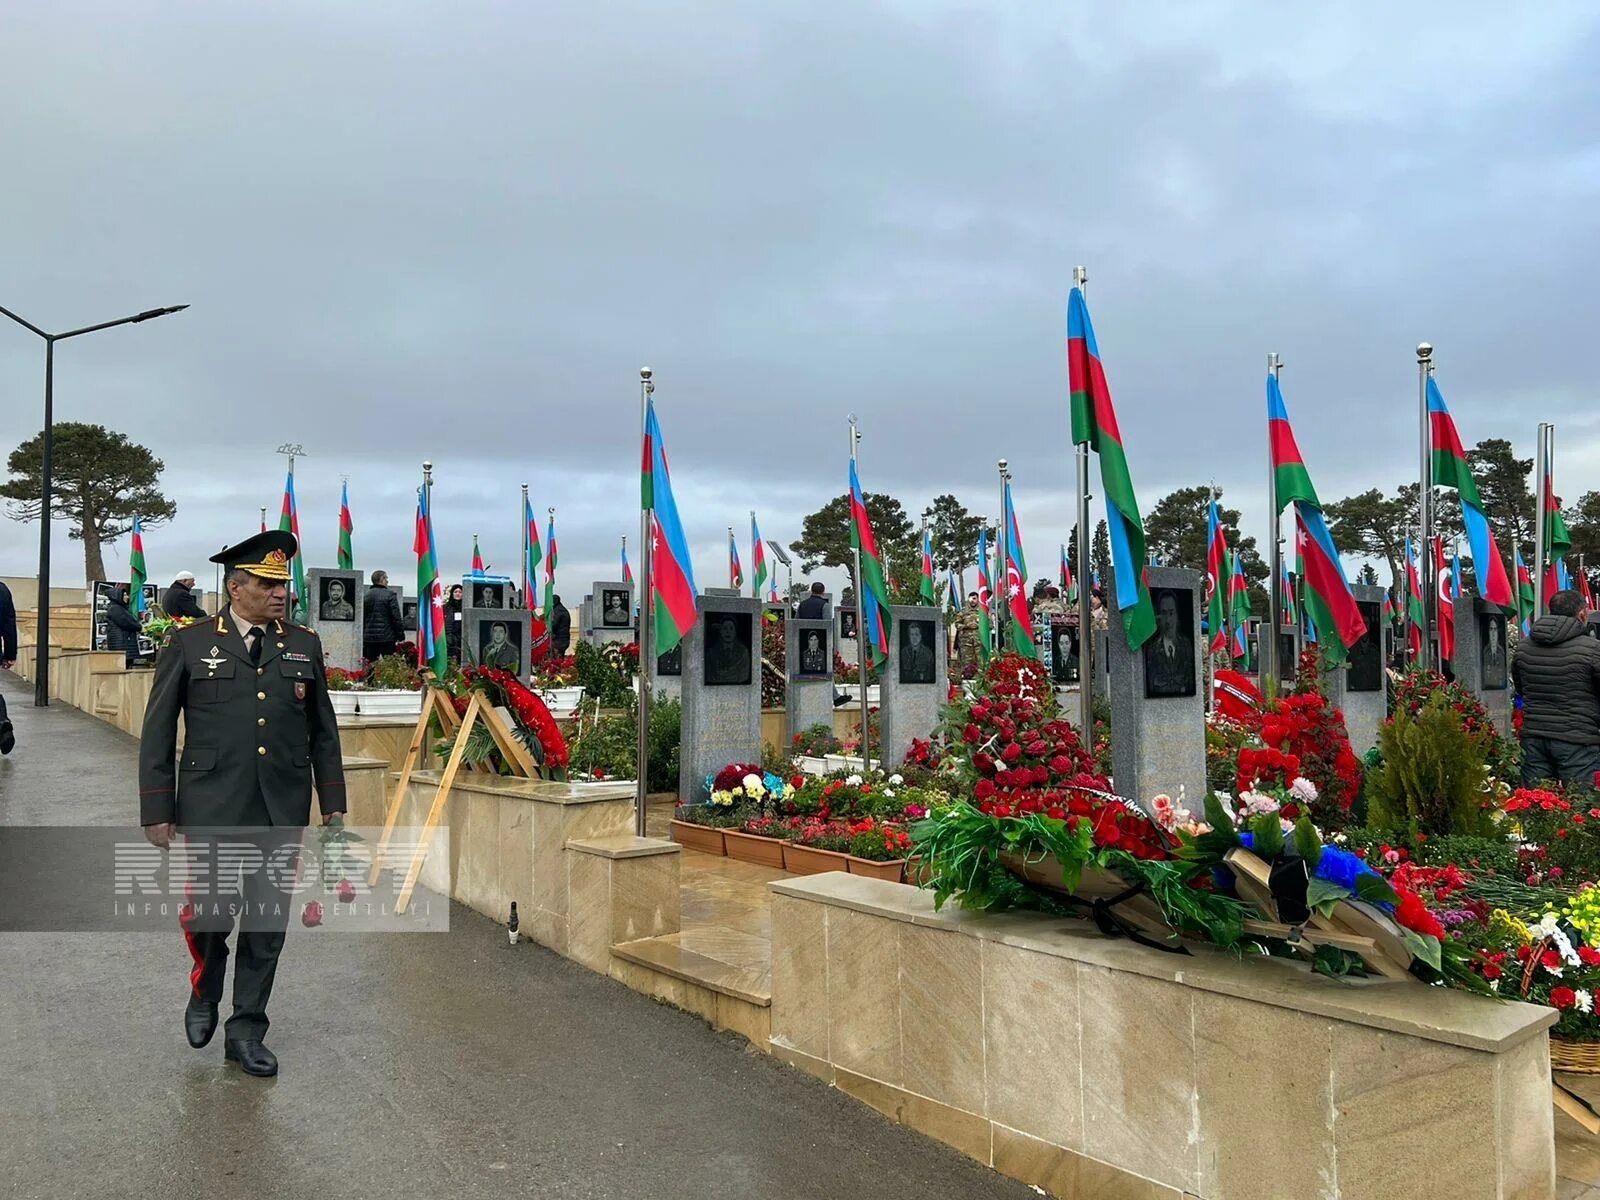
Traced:
[[1181, 566], [1147, 571], [1155, 637], [1128, 650], [1115, 576], [1106, 579], [1110, 630], [1110, 726], [1114, 787], [1146, 808], [1165, 792], [1198, 810], [1205, 800], [1205, 691], [1200, 686], [1200, 602], [1205, 576]]

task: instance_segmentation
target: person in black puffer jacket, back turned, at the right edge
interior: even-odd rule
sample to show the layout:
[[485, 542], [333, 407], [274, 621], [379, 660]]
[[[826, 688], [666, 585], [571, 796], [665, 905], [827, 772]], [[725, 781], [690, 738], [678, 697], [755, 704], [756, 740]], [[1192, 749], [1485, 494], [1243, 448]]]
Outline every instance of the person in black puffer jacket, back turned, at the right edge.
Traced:
[[1512, 658], [1523, 787], [1589, 782], [1600, 770], [1600, 642], [1584, 637], [1586, 613], [1579, 592], [1557, 592]]

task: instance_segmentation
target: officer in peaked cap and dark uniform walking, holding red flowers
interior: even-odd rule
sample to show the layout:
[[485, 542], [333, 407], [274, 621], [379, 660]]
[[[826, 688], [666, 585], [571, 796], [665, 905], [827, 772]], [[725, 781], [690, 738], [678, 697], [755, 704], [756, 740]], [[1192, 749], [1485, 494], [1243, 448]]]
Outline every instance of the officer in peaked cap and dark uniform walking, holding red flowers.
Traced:
[[211, 560], [227, 570], [227, 605], [173, 632], [155, 666], [139, 746], [144, 835], [166, 850], [184, 834], [192, 878], [181, 917], [194, 958], [184, 1032], [192, 1046], [216, 1032], [237, 915], [234, 1013], [224, 1040], [227, 1061], [251, 1075], [278, 1070], [262, 1045], [267, 998], [294, 906], [312, 782], [323, 824], [344, 813], [322, 643], [283, 619], [296, 549], [294, 534], [272, 530]]

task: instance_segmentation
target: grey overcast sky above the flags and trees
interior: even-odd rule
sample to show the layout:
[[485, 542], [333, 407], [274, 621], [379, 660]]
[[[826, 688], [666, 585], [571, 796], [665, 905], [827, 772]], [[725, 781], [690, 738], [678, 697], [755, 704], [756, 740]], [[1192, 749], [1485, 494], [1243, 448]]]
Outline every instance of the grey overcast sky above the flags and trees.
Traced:
[[[1318, 491], [1416, 472], [1418, 341], [1462, 438], [1600, 486], [1600, 10], [1590, 3], [59, 3], [0, 37], [0, 304], [69, 328], [56, 416], [166, 462], [146, 547], [200, 573], [275, 517], [309, 565], [558, 590], [637, 560], [638, 368], [701, 586], [861, 477], [997, 507], [1034, 574], [1072, 520], [1074, 264], [1146, 512], [1214, 478], [1266, 528], [1266, 354]], [[43, 347], [0, 326], [0, 451]], [[1096, 486], [1096, 491], [1099, 488]], [[82, 579], [64, 525], [56, 581]], [[37, 571], [0, 523], [0, 574]], [[126, 539], [107, 547], [125, 570]]]

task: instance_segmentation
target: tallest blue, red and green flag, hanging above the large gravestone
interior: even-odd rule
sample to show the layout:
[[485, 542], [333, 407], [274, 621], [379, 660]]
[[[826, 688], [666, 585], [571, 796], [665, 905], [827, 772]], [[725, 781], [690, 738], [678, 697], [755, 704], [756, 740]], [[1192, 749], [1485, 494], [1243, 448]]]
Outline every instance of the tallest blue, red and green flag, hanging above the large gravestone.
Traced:
[[[1110, 562], [1117, 576], [1117, 608], [1128, 650], [1138, 650], [1155, 635], [1155, 606], [1144, 576], [1144, 520], [1133, 494], [1128, 456], [1117, 427], [1117, 410], [1101, 363], [1094, 326], [1083, 290], [1067, 299], [1067, 379], [1072, 408], [1072, 442], [1088, 445], [1099, 458], [1101, 491], [1106, 493], [1106, 526], [1110, 533]], [[1078, 536], [1088, 536], [1085, 530]]]

